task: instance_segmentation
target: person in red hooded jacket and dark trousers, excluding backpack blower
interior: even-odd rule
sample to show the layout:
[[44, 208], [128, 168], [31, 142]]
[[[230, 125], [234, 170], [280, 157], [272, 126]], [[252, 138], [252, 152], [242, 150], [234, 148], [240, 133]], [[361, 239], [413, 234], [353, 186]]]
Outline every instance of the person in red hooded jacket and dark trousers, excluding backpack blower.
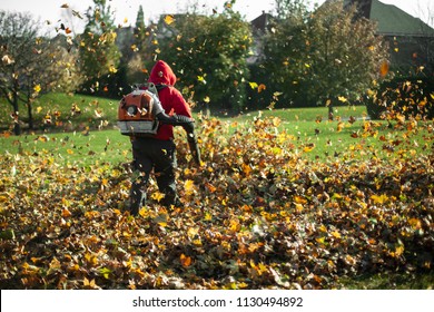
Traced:
[[[191, 119], [188, 104], [179, 90], [174, 87], [176, 80], [170, 66], [158, 60], [150, 72], [148, 82], [156, 85], [159, 100], [167, 115], [174, 116], [176, 114], [176, 116]], [[193, 123], [180, 123], [179, 125], [186, 129], [187, 134], [193, 134]], [[130, 191], [130, 213], [137, 215], [140, 207], [145, 205], [147, 185], [152, 168], [158, 188], [165, 194], [160, 203], [166, 206], [180, 206], [175, 182], [177, 163], [174, 126], [161, 123], [155, 137], [132, 137], [131, 144], [136, 174]]]

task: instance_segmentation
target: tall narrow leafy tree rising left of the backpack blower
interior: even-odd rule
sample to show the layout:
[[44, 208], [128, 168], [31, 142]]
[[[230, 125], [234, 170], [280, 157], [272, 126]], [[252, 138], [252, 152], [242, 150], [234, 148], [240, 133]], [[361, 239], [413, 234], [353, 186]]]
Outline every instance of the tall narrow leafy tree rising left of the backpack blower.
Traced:
[[[116, 46], [115, 20], [106, 0], [93, 0], [86, 17], [87, 25], [80, 41], [82, 71], [87, 75], [85, 88], [116, 92], [114, 76], [118, 71], [120, 52]], [[111, 84], [110, 84], [111, 82]]]

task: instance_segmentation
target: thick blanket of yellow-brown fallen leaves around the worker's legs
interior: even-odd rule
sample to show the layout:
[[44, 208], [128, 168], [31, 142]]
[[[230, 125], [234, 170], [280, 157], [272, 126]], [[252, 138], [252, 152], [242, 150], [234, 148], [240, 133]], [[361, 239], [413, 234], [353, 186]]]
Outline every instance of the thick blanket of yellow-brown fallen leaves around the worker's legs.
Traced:
[[312, 162], [278, 124], [203, 120], [201, 166], [178, 142], [184, 207], [151, 182], [137, 217], [128, 166], [2, 155], [1, 289], [331, 289], [432, 270], [433, 153]]

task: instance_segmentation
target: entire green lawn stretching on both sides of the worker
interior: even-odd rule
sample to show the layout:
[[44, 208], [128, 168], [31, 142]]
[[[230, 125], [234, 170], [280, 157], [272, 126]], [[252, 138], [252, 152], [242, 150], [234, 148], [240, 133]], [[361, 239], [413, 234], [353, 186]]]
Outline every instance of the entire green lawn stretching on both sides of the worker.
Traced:
[[[65, 162], [119, 163], [130, 159], [129, 139], [116, 129], [115, 100], [50, 94], [38, 99], [33, 109], [37, 130], [20, 137], [3, 134], [1, 150], [42, 154]], [[315, 107], [250, 111], [219, 119], [227, 124], [226, 135], [230, 135], [236, 129], [248, 130], [257, 118], [279, 118], [278, 130], [293, 136], [295, 152], [309, 150], [303, 153], [308, 159], [412, 157], [432, 149], [432, 143], [426, 139], [432, 124], [389, 128], [385, 121], [368, 120], [364, 106], [337, 107], [334, 115], [334, 121], [329, 121], [328, 108]], [[200, 118], [197, 114], [195, 116], [200, 134]], [[2, 128], [8, 127], [8, 118], [3, 111], [0, 116]], [[50, 126], [43, 124], [47, 118], [51, 120]], [[183, 138], [179, 131], [178, 137]]]

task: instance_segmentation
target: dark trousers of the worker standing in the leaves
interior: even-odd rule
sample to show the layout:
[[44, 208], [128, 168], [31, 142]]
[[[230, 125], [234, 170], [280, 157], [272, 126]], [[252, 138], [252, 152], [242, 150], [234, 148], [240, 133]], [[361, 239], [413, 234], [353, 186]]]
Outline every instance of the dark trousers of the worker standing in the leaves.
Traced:
[[155, 138], [135, 138], [131, 143], [134, 178], [130, 191], [130, 213], [136, 215], [146, 204], [147, 186], [152, 168], [158, 189], [165, 194], [161, 204], [175, 205], [177, 201], [175, 143]]

